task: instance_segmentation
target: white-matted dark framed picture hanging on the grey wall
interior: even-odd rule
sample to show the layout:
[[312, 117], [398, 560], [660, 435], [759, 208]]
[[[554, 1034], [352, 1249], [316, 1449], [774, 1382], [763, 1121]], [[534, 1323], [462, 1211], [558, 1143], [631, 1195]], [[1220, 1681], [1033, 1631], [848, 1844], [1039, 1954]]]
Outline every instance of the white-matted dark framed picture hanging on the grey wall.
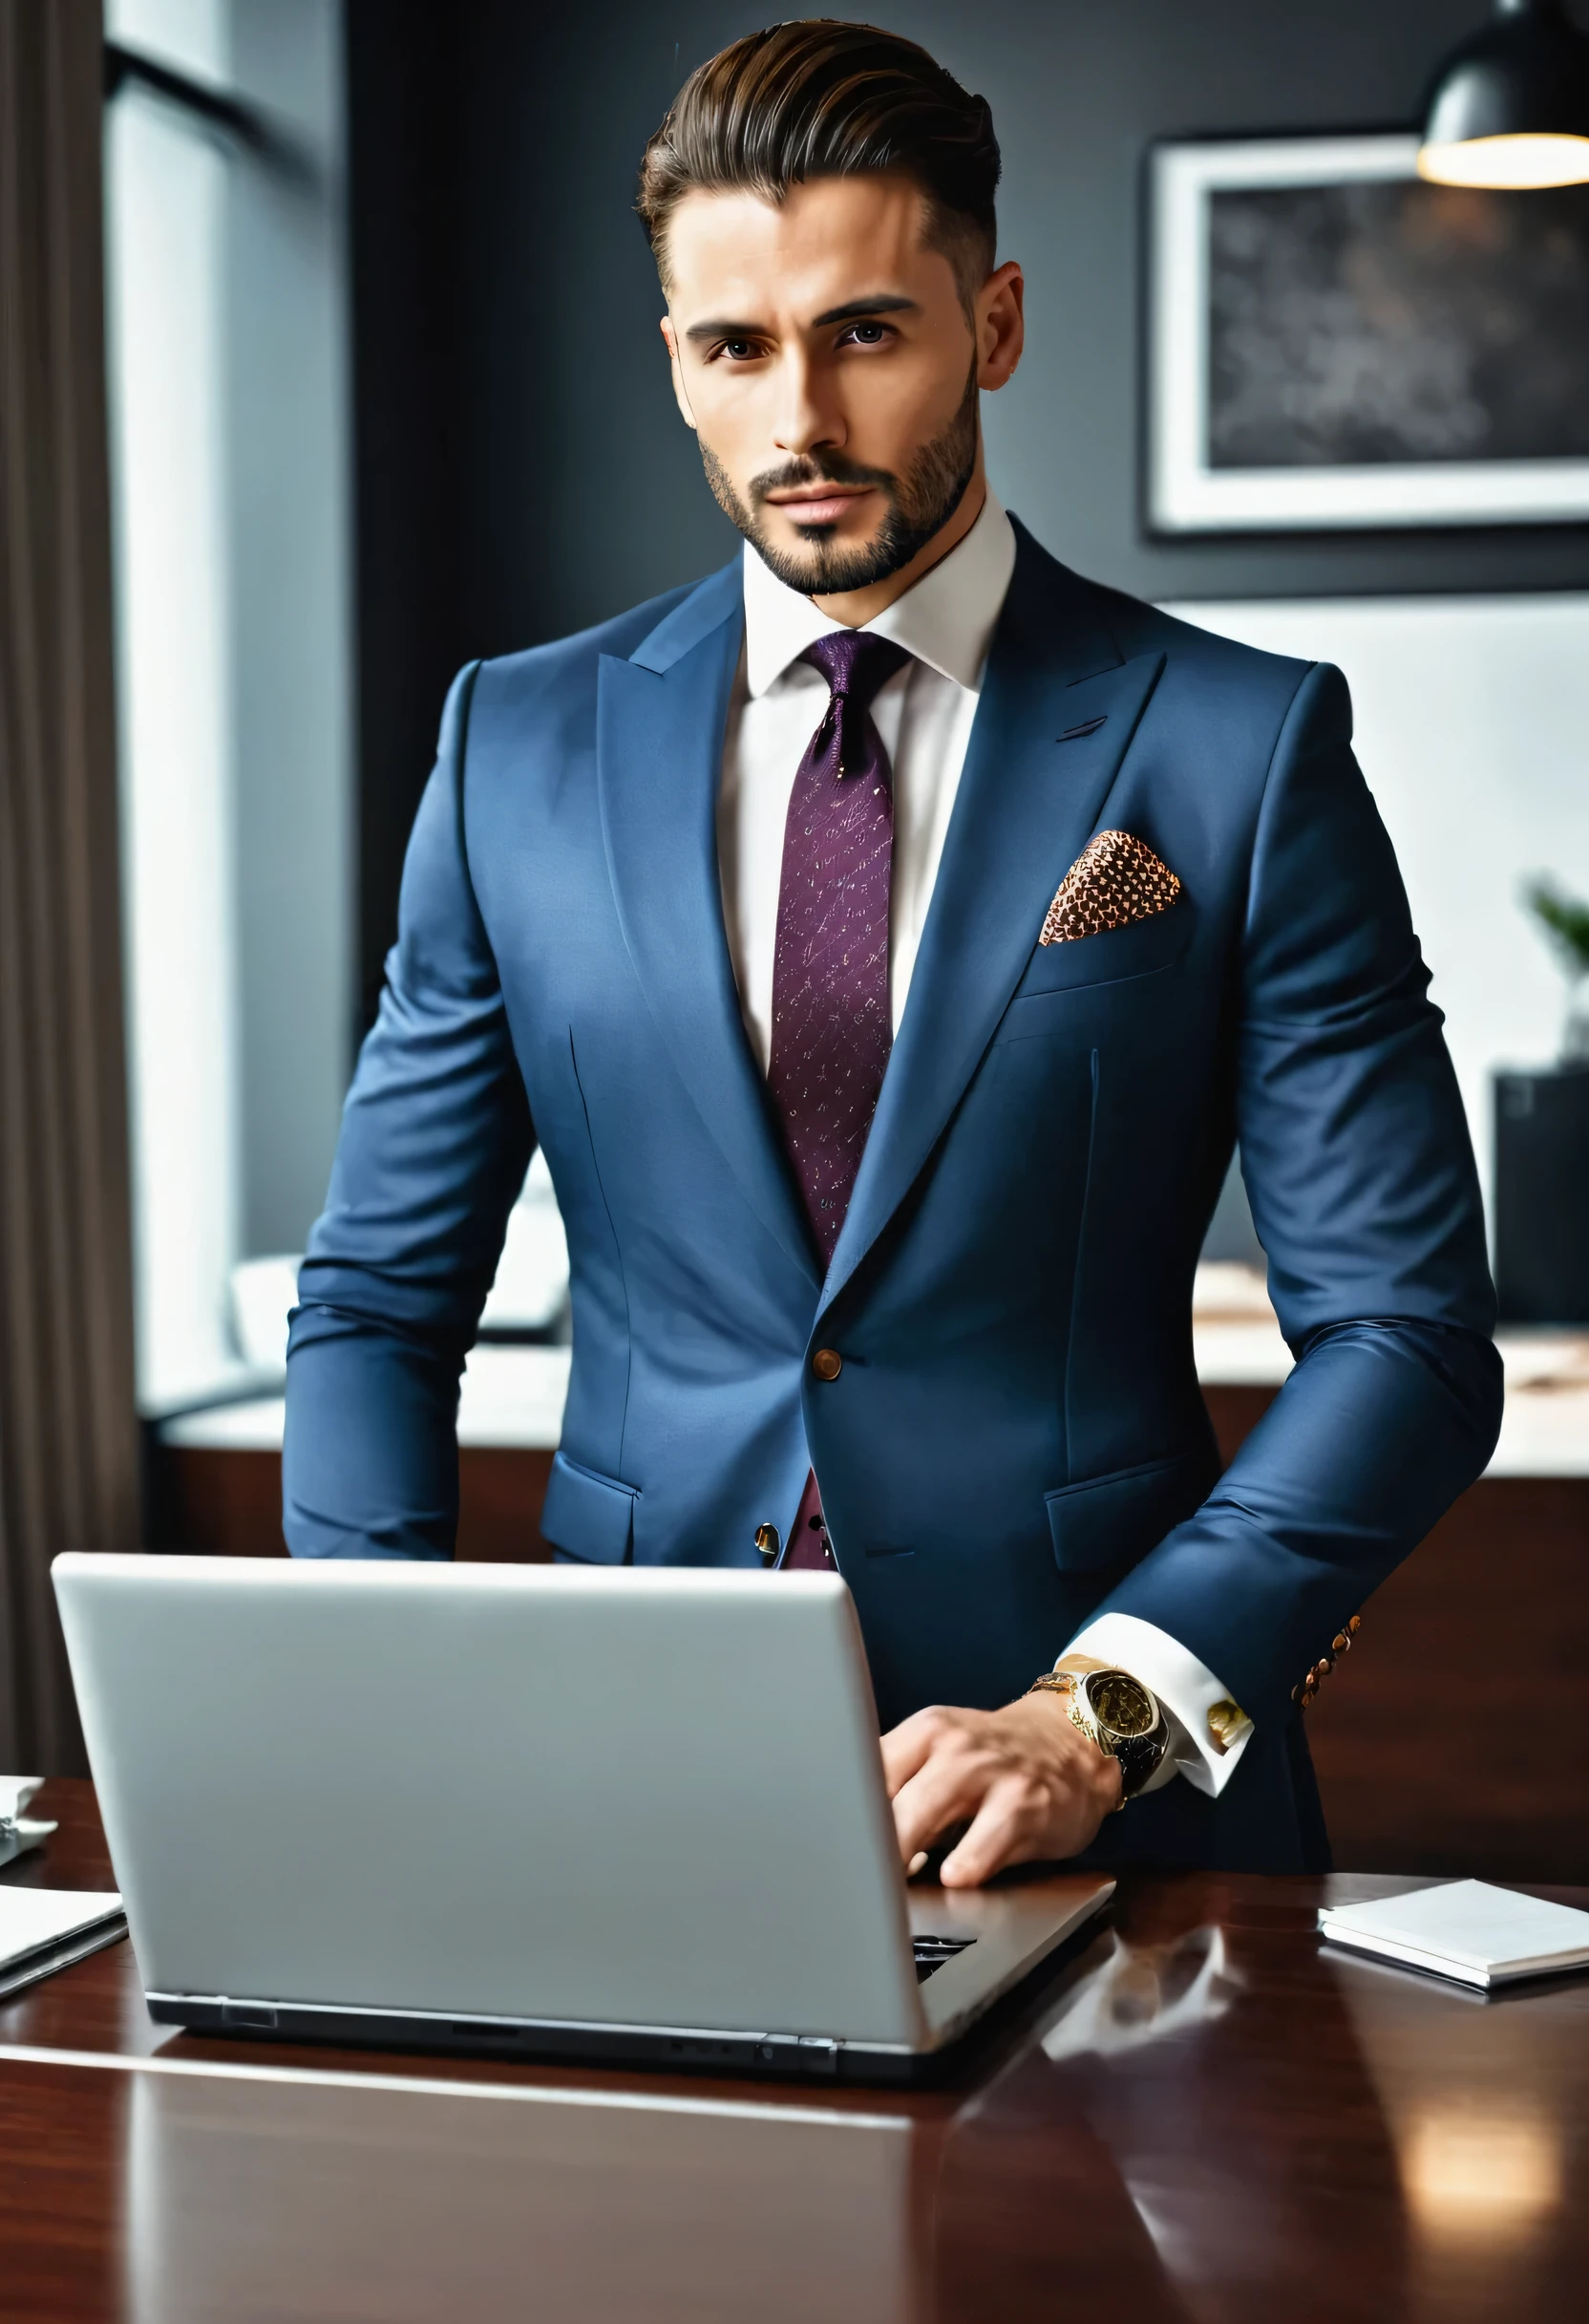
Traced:
[[1426, 186], [1415, 137], [1148, 158], [1148, 523], [1589, 518], [1589, 188]]

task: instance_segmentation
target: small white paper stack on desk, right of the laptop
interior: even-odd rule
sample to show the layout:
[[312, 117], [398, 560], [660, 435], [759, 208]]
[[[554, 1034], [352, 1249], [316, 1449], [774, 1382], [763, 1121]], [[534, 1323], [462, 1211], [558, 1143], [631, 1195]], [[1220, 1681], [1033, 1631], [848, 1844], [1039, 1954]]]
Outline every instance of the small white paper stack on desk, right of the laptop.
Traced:
[[1450, 1880], [1320, 1913], [1331, 1945], [1373, 1952], [1461, 1985], [1505, 1985], [1589, 1966], [1589, 1913], [1543, 1896], [1519, 1896], [1487, 1880]]

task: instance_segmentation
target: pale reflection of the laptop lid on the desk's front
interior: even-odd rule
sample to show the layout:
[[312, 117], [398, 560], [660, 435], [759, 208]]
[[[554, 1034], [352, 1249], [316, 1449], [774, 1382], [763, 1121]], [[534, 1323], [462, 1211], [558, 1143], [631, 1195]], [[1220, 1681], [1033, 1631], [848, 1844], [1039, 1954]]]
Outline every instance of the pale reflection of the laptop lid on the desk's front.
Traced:
[[135, 2324], [908, 2324], [906, 2117], [139, 2075]]

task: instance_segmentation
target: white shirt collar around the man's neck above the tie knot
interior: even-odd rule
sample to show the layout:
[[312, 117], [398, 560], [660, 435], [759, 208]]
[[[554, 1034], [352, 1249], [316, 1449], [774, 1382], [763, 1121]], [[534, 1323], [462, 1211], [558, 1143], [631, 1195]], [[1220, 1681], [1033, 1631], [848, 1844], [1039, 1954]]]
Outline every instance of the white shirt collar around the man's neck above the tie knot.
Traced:
[[[1015, 528], [990, 493], [983, 509], [950, 553], [929, 574], [894, 597], [876, 621], [864, 623], [878, 637], [913, 653], [918, 662], [939, 669], [966, 693], [980, 693], [983, 665], [994, 623], [1015, 572]], [[764, 695], [806, 646], [843, 623], [820, 614], [811, 597], [785, 588], [746, 541], [746, 686]]]

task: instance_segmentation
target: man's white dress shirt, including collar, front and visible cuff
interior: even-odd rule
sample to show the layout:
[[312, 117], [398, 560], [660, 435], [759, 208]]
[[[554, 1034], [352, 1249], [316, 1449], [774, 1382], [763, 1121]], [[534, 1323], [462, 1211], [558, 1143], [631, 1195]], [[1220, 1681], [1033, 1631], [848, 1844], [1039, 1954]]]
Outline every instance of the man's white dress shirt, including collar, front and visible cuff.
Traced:
[[[904, 669], [878, 688], [871, 709], [894, 774], [887, 930], [894, 1032], [911, 992], [915, 951], [939, 878], [987, 646], [1013, 572], [1015, 532], [990, 493], [964, 541], [876, 621], [864, 623], [878, 637], [892, 637], [911, 655]], [[750, 544], [743, 551], [743, 576], [746, 644], [722, 741], [718, 871], [739, 1006], [750, 1046], [767, 1071], [783, 825], [794, 774], [827, 709], [827, 679], [799, 655], [843, 623], [818, 611], [811, 597], [785, 588]], [[1208, 1710], [1224, 1701], [1227, 1692], [1185, 1645], [1136, 1615], [1103, 1615], [1071, 1641], [1069, 1652], [1094, 1655], [1131, 1671], [1164, 1703], [1171, 1717], [1171, 1755], [1155, 1785], [1178, 1769], [1199, 1792], [1224, 1789], [1250, 1729], [1243, 1729], [1229, 1750], [1220, 1750], [1208, 1727]]]

